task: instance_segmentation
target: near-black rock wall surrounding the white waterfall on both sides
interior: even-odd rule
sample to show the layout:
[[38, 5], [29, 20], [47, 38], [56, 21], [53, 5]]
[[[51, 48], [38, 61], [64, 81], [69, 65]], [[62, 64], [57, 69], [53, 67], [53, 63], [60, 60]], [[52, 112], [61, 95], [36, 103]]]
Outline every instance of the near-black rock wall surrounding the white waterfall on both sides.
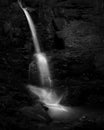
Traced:
[[[53, 88], [64, 95], [62, 103], [103, 107], [103, 0], [23, 2], [34, 9], [30, 13], [42, 52], [48, 57]], [[8, 129], [8, 126], [11, 130], [50, 129], [51, 126], [46, 125], [50, 120], [47, 112], [36, 105], [37, 98], [26, 89], [28, 83], [39, 86], [40, 83], [36, 60], [32, 59], [35, 50], [25, 15], [15, 0], [1, 0], [0, 7], [0, 129]], [[38, 108], [40, 116], [36, 116], [35, 109]], [[90, 129], [98, 126], [99, 129], [95, 120], [88, 120], [77, 121], [72, 126], [69, 122], [59, 122], [62, 126], [56, 123], [52, 128]], [[29, 126], [31, 123], [32, 127]]]

